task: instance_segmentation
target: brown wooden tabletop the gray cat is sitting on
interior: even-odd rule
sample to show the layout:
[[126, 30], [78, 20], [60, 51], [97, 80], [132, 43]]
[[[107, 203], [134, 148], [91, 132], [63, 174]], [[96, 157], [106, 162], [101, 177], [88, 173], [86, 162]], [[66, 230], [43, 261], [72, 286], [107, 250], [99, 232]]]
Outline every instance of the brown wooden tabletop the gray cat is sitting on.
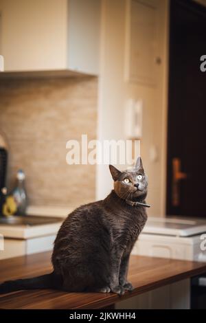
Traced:
[[[0, 279], [12, 280], [46, 274], [51, 271], [51, 252], [0, 261]], [[49, 289], [18, 291], [0, 296], [0, 309], [100, 309], [172, 282], [206, 272], [206, 263], [131, 256], [130, 282], [133, 292], [124, 296], [114, 293], [65, 293]]]

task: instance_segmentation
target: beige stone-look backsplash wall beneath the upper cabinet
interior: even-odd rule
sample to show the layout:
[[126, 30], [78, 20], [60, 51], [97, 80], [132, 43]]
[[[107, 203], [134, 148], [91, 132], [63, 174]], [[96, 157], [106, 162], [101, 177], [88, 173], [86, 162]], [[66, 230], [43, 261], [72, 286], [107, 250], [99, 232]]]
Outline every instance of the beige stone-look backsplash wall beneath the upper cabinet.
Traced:
[[96, 78], [0, 80], [0, 131], [9, 142], [8, 187], [26, 174], [31, 205], [80, 205], [95, 198], [95, 166], [66, 163], [66, 142], [96, 137]]

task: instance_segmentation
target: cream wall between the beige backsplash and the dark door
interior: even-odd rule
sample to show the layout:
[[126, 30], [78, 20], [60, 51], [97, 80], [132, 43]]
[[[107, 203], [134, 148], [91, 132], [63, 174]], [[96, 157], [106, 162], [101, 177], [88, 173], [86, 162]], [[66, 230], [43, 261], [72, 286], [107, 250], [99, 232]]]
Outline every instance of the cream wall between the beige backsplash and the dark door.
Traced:
[[[141, 156], [149, 177], [149, 214], [165, 212], [165, 142], [168, 70], [168, 0], [160, 2], [160, 56], [157, 87], [148, 87], [124, 80], [126, 46], [126, 1], [102, 0], [101, 59], [99, 84], [98, 138], [126, 139], [124, 109], [128, 98], [144, 102]], [[150, 160], [150, 148], [157, 146], [159, 157]], [[97, 199], [102, 199], [112, 188], [108, 166], [97, 169]]]

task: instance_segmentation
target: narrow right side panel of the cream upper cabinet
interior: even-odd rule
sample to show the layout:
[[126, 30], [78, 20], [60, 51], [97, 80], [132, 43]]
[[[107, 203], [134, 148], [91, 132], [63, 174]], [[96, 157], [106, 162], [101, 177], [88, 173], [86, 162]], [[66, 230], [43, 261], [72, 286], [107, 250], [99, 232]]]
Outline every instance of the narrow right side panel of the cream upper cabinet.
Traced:
[[98, 75], [101, 0], [69, 0], [68, 64], [72, 71]]

